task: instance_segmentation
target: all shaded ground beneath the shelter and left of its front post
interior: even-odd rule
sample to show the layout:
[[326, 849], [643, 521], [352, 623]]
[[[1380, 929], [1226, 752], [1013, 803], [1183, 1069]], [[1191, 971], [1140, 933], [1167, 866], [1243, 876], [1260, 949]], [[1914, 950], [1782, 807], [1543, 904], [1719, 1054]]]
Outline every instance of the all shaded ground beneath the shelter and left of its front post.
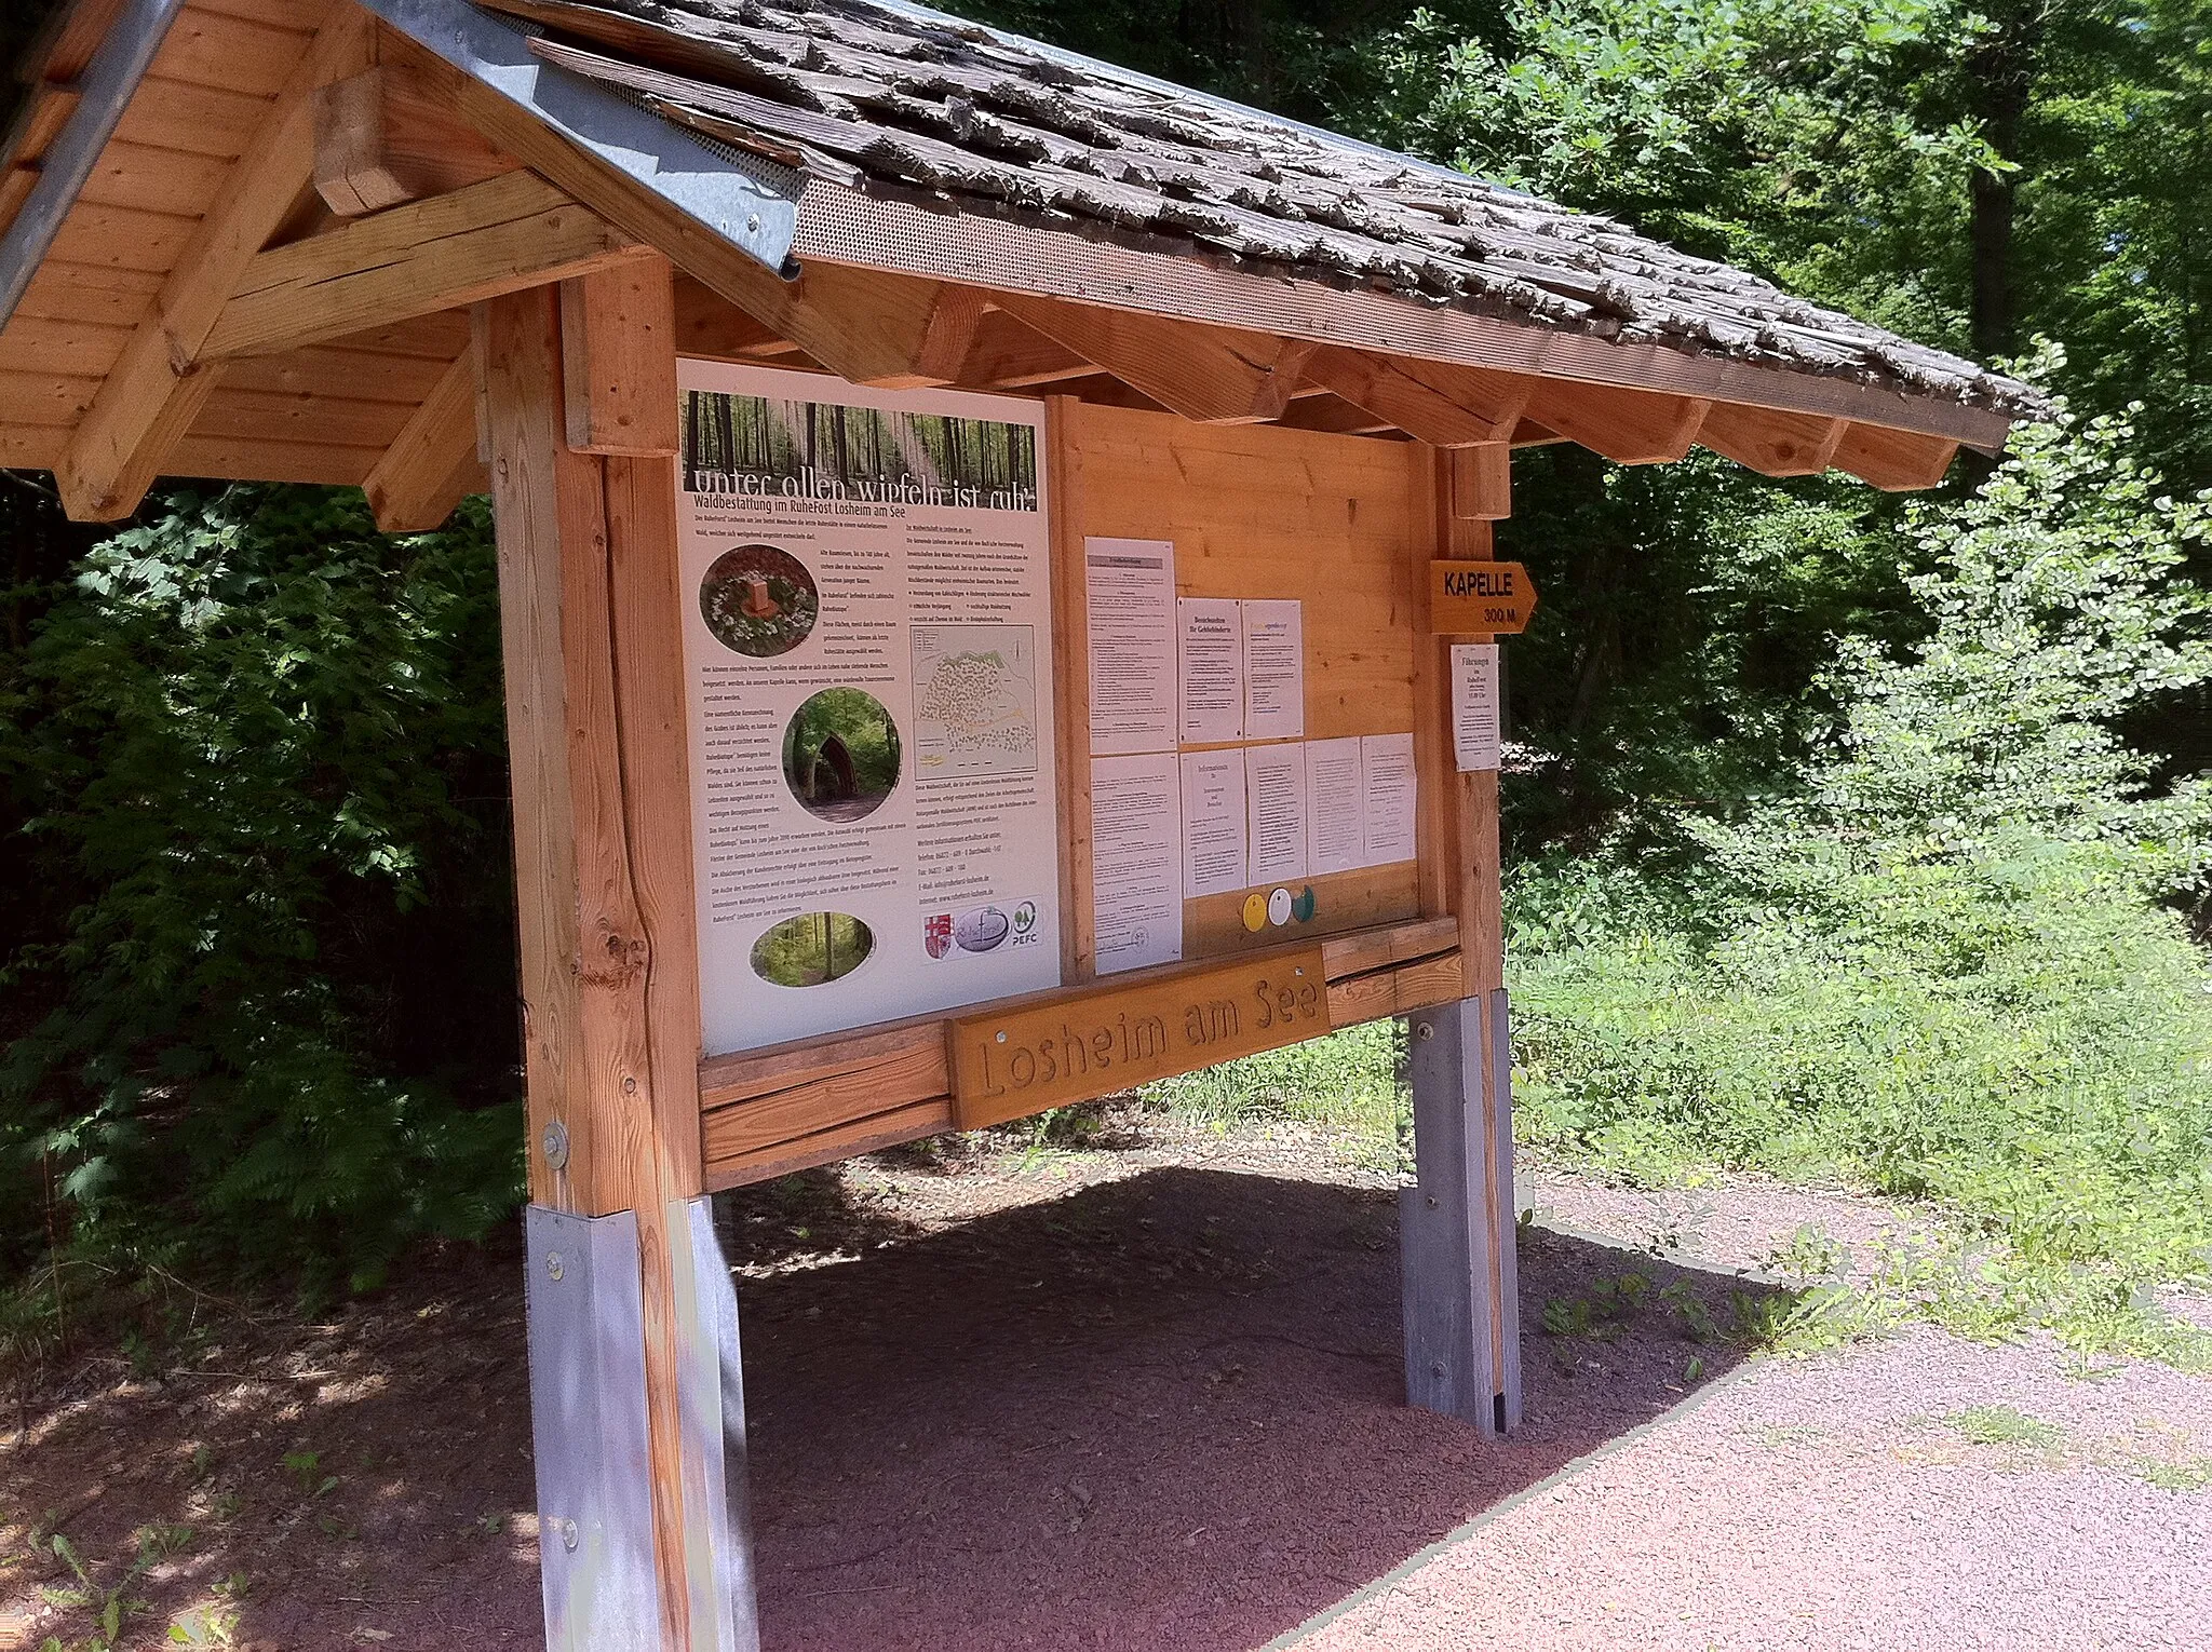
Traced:
[[[723, 1203], [770, 1652], [1252, 1648], [1734, 1362], [1688, 1338], [1734, 1280], [1524, 1232], [1528, 1426], [1491, 1444], [1400, 1402], [1389, 1192], [1155, 1170], [936, 1232], [832, 1177]], [[263, 1652], [535, 1643], [520, 1285], [520, 1247], [456, 1250], [327, 1325], [86, 1367], [0, 1449], [0, 1645], [97, 1621], [40, 1606], [75, 1579], [33, 1537], [97, 1612], [164, 1524], [126, 1648], [188, 1608]]]

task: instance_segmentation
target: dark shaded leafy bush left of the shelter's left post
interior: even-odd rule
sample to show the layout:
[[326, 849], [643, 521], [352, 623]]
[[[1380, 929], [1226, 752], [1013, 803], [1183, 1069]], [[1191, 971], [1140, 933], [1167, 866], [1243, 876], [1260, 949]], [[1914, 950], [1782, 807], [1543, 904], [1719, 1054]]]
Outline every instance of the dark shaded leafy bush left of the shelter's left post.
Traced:
[[480, 504], [181, 495], [82, 562], [0, 679], [15, 1263], [361, 1285], [513, 1205], [498, 659]]

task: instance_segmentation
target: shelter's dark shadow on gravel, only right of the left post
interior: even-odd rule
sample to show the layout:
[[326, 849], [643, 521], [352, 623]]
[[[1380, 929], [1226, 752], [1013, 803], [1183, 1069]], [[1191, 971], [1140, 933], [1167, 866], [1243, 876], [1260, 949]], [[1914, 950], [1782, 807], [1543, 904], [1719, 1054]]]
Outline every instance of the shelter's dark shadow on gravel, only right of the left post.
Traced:
[[1730, 1287], [1524, 1232], [1500, 1446], [1402, 1404], [1389, 1192], [1155, 1170], [752, 1283], [763, 1643], [1261, 1645], [1719, 1376]]

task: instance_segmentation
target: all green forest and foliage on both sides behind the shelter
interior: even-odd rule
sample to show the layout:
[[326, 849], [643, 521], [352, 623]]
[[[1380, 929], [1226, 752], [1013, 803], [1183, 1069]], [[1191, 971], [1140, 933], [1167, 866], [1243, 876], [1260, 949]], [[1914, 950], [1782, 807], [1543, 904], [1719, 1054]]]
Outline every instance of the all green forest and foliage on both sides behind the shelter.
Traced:
[[[2015, 1316], [2101, 1336], [2203, 1272], [2212, 2], [962, 9], [2064, 398], [1918, 502], [1515, 460], [1524, 1132], [1942, 1199]], [[0, 533], [0, 1334], [484, 1232], [520, 1128], [482, 509], [385, 542], [358, 495], [181, 489], [100, 537], [4, 475]]]

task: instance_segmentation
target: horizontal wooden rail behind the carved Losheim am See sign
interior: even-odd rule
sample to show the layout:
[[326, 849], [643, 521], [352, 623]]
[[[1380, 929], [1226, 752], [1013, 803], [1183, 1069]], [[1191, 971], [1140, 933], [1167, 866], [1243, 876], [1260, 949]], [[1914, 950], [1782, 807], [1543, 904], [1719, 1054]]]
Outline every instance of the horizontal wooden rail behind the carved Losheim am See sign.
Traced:
[[[1336, 935], [1321, 955], [1332, 1031], [1464, 993], [1451, 918]], [[1115, 975], [1091, 991], [1121, 993], [1146, 973]], [[708, 1188], [785, 1177], [953, 1128], [945, 1028], [947, 1017], [929, 1015], [701, 1062]]]

